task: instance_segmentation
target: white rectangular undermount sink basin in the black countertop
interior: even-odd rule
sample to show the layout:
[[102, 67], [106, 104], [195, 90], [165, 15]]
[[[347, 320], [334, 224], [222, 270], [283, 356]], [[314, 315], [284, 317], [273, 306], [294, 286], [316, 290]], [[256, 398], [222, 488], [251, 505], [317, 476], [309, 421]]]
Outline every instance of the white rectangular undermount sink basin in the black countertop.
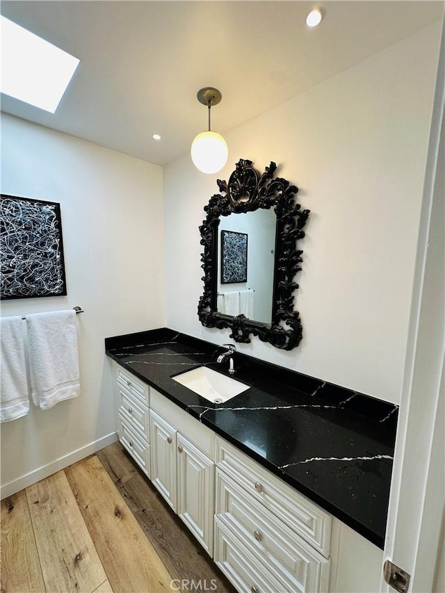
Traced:
[[198, 396], [216, 404], [227, 402], [227, 400], [249, 389], [249, 385], [212, 371], [207, 366], [198, 366], [198, 368], [193, 368], [191, 371], [172, 377], [172, 380], [184, 385], [187, 389], [191, 389]]

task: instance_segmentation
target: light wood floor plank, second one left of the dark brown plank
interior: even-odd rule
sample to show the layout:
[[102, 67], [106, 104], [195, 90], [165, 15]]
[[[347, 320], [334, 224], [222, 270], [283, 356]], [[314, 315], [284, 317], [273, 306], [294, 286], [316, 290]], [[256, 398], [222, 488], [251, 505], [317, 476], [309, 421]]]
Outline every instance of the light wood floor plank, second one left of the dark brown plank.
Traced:
[[26, 488], [47, 591], [92, 592], [106, 574], [63, 471]]

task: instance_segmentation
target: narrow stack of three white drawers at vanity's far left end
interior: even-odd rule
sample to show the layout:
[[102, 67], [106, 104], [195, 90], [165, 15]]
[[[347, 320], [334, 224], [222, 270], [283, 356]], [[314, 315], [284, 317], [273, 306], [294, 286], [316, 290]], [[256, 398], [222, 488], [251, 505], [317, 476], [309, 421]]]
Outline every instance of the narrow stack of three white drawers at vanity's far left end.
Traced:
[[148, 385], [117, 368], [115, 393], [119, 440], [140, 469], [150, 477]]

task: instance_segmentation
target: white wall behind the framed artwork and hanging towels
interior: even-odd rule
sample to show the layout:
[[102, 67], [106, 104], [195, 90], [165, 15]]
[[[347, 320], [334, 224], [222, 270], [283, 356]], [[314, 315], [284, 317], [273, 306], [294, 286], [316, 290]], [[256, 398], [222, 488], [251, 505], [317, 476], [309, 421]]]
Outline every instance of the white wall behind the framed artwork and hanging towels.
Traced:
[[[60, 202], [67, 276], [66, 297], [2, 301], [1, 314], [85, 310], [76, 316], [81, 396], [1, 425], [1, 483], [23, 486], [35, 478], [20, 481], [26, 474], [115, 438], [104, 338], [164, 325], [163, 173], [9, 115], [1, 136], [2, 193]], [[2, 496], [8, 489], [17, 488]]]

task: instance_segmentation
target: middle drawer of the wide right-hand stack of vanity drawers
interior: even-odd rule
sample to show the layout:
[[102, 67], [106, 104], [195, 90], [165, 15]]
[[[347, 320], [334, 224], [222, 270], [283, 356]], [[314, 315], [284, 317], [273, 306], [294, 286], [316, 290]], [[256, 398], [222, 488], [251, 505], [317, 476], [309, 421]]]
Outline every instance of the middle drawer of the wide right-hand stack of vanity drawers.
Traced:
[[327, 591], [330, 561], [314, 551], [274, 514], [220, 469], [216, 470], [216, 517], [255, 555], [282, 590]]

